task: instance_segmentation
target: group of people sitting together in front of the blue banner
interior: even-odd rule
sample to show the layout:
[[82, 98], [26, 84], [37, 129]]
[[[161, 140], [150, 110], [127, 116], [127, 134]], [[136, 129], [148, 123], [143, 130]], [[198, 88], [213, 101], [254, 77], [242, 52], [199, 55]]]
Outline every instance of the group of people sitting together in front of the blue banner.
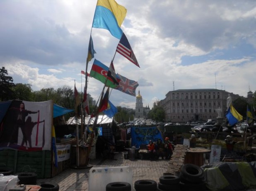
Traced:
[[161, 139], [157, 139], [157, 142], [149, 141], [147, 150], [150, 154], [150, 160], [157, 160], [159, 157], [169, 160], [174, 150], [174, 144], [171, 143], [169, 137], [165, 137], [164, 143]]

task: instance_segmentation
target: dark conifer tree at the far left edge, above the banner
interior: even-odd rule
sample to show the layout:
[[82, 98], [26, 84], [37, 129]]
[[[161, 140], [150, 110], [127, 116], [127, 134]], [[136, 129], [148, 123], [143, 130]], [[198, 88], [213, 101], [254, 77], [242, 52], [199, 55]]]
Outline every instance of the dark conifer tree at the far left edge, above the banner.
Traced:
[[0, 101], [13, 99], [12, 88], [15, 86], [11, 76], [7, 76], [8, 72], [5, 67], [0, 69]]

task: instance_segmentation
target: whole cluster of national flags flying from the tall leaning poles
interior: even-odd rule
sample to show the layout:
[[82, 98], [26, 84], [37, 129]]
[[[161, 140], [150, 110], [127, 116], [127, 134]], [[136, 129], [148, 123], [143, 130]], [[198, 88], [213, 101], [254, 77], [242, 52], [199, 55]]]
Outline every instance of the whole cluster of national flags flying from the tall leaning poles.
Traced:
[[[140, 68], [138, 61], [135, 57], [135, 54], [130, 46], [130, 43], [128, 42], [126, 35], [123, 33], [121, 29], [121, 24], [123, 23], [126, 17], [126, 12], [126, 8], [121, 5], [118, 5], [118, 3], [116, 3], [115, 0], [98, 0], [94, 13], [92, 28], [106, 29], [115, 38], [120, 39], [116, 47], [116, 52], [123, 55], [123, 57], [125, 57], [130, 62], [132, 62]], [[108, 87], [108, 90], [104, 94], [104, 98], [100, 101], [99, 111], [103, 111], [107, 116], [113, 117], [114, 114], [117, 112], [117, 109], [109, 101], [109, 88], [113, 88], [115, 90], [119, 90], [126, 94], [135, 96], [135, 90], [139, 84], [134, 80], [129, 80], [128, 78], [120, 74], [116, 74], [114, 68], [114, 58], [111, 60], [111, 64], [109, 67], [102, 64], [99, 60], [94, 59], [92, 69], [90, 73], [87, 73], [88, 63], [94, 58], [94, 54], [96, 54], [96, 51], [94, 50], [92, 35], [90, 35], [86, 71], [81, 71], [81, 74], [84, 74], [86, 79], [87, 76], [95, 78], [99, 80], [101, 83], [104, 83], [104, 87]], [[87, 90], [85, 88], [84, 99], [82, 104], [86, 109], [86, 112], [89, 114], [87, 101]]]

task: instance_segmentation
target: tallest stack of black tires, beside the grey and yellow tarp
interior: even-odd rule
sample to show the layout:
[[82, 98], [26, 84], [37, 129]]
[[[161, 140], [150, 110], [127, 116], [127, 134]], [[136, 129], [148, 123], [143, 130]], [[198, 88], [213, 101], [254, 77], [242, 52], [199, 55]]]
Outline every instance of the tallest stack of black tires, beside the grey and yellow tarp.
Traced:
[[180, 188], [186, 191], [208, 190], [204, 182], [203, 169], [197, 165], [185, 164], [181, 167], [179, 174]]

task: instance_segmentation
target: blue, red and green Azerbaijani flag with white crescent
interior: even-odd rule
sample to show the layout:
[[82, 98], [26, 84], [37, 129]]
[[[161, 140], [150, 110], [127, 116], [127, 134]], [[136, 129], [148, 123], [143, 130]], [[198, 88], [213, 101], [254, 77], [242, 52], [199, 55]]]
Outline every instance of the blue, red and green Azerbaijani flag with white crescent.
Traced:
[[[107, 77], [108, 71], [109, 71], [109, 67], [102, 64], [97, 59], [94, 59], [94, 62], [92, 64], [92, 69], [90, 71], [90, 77], [95, 78], [95, 79], [101, 81], [102, 83], [105, 83], [106, 78], [108, 78], [108, 80], [106, 82], [106, 86], [115, 88], [117, 86], [117, 84], [114, 83], [113, 79], [111, 79], [110, 77]], [[112, 74], [112, 75], [116, 75], [116, 74]], [[116, 80], [118, 82], [120, 81], [120, 78], [118, 78], [118, 75], [116, 75]]]

